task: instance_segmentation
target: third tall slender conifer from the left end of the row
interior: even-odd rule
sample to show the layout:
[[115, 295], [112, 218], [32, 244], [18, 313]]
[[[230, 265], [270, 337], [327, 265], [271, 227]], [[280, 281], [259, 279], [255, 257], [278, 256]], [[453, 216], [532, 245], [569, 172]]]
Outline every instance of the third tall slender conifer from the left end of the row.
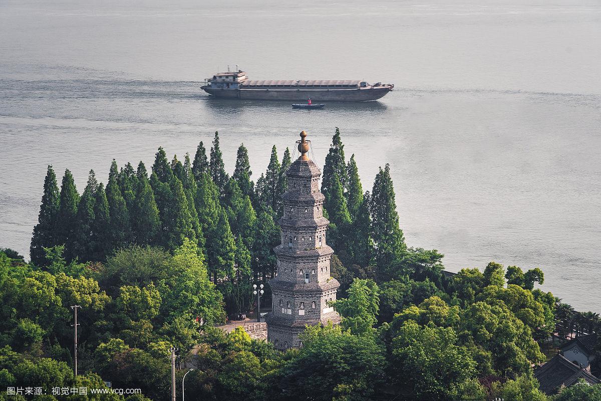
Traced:
[[93, 249], [91, 248], [91, 237], [95, 218], [94, 204], [96, 204], [96, 191], [98, 191], [98, 181], [96, 180], [94, 170], [90, 170], [88, 183], [79, 200], [75, 227], [74, 254], [79, 260], [84, 262], [92, 260]]

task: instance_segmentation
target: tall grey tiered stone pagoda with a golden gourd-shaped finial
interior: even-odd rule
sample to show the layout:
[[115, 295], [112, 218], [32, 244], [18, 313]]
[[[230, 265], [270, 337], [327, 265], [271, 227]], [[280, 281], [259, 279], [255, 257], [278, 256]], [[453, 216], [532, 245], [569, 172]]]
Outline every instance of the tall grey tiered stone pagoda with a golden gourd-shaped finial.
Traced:
[[279, 220], [282, 242], [276, 246], [276, 277], [269, 281], [272, 311], [267, 314], [267, 341], [278, 349], [302, 347], [299, 334], [307, 325], [336, 324], [340, 316], [329, 301], [336, 300], [340, 283], [331, 277], [334, 251], [326, 244], [329, 221], [323, 217], [319, 192], [321, 171], [307, 153], [311, 141], [301, 132], [299, 156], [286, 171], [288, 191], [282, 195], [284, 216]]

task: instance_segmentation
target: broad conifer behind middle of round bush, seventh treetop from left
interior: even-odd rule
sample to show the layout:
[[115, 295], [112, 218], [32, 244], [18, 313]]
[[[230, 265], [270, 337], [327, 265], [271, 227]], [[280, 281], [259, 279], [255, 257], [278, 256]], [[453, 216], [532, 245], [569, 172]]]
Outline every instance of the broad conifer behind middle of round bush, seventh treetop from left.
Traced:
[[144, 163], [138, 164], [137, 187], [133, 209], [130, 210], [133, 242], [139, 245], [155, 245], [160, 232], [159, 209], [150, 188]]

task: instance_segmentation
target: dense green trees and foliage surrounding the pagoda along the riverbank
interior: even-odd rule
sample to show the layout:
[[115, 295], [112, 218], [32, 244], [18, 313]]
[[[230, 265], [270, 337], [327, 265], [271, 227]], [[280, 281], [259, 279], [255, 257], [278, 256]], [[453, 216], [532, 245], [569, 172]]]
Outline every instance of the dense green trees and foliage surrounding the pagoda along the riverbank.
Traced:
[[[127, 401], [168, 400], [171, 347], [177, 397], [195, 367], [186, 400], [599, 398], [584, 385], [547, 397], [532, 370], [555, 323], [594, 332], [598, 315], [535, 289], [538, 268], [491, 262], [444, 274], [436, 249], [406, 245], [389, 166], [364, 192], [338, 129], [322, 192], [341, 324], [308, 328], [303, 347], [285, 353], [241, 328], [214, 328], [249, 311], [252, 283], [275, 274], [290, 164], [288, 149], [280, 161], [273, 147], [254, 183], [242, 144], [230, 177], [215, 133], [209, 152], [200, 142], [183, 162], [159, 148], [150, 175], [142, 162], [113, 161], [105, 187], [90, 171], [81, 195], [69, 170], [59, 188], [49, 166], [31, 262], [0, 249], [0, 400], [20, 401], [3, 390], [26, 386], [43, 387], [40, 401], [126, 398], [50, 395], [104, 381], [141, 389]], [[81, 305], [77, 377], [70, 305]]]

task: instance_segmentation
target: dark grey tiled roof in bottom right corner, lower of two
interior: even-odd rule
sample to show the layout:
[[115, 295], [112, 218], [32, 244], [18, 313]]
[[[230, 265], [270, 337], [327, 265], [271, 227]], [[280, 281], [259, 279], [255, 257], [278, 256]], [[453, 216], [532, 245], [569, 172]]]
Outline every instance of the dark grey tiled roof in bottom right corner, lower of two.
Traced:
[[589, 384], [600, 384], [601, 380], [581, 369], [563, 355], [556, 355], [551, 361], [534, 371], [534, 377], [540, 383], [540, 390], [545, 394], [552, 394], [557, 388], [569, 387], [579, 379], [584, 379]]

